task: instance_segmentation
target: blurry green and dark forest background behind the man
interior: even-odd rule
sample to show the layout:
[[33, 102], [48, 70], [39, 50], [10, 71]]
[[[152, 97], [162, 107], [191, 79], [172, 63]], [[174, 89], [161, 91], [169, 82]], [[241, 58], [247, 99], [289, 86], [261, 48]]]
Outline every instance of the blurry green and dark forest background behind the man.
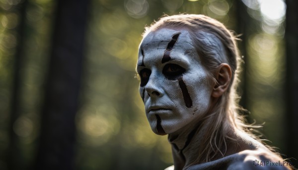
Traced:
[[[134, 78], [145, 25], [205, 14], [241, 35], [240, 105], [298, 159], [296, 0], [0, 0], [0, 170], [163, 170]], [[295, 159], [291, 159], [297, 165]]]

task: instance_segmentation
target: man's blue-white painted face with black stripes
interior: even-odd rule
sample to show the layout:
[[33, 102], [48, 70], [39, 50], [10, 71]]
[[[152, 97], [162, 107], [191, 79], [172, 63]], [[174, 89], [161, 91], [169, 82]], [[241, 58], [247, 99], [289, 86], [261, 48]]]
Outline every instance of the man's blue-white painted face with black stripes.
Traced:
[[207, 112], [212, 87], [188, 31], [149, 32], [140, 46], [137, 71], [154, 133], [173, 133]]

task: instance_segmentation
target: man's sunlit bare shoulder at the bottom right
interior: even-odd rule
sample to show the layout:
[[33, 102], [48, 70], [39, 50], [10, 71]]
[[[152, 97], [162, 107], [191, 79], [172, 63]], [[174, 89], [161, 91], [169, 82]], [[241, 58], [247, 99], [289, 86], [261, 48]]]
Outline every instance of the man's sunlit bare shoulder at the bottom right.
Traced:
[[290, 163], [264, 149], [244, 150], [232, 156], [227, 170], [292, 170]]

